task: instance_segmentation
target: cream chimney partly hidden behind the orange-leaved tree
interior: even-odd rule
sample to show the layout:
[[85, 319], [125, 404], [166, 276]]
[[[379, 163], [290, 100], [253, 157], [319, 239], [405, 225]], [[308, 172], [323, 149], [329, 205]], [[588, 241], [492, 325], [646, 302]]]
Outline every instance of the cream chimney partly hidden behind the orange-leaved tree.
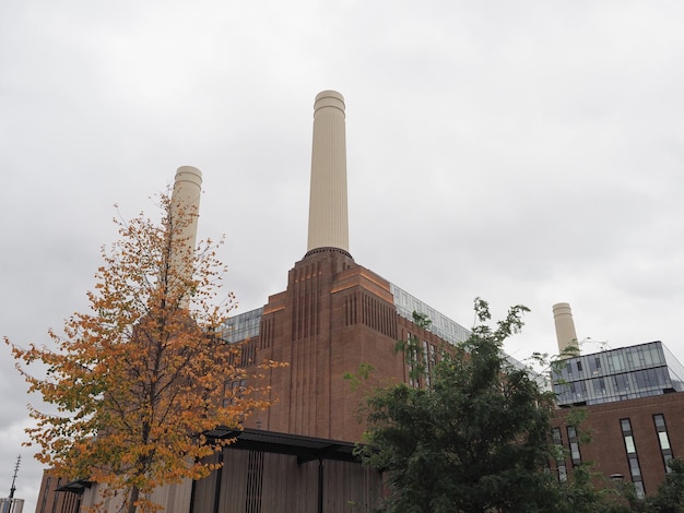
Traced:
[[[191, 166], [179, 167], [176, 171], [170, 203], [174, 239], [172, 269], [184, 283], [192, 277], [201, 193], [202, 174], [200, 170]], [[184, 298], [185, 307], [188, 301], [188, 297]]]

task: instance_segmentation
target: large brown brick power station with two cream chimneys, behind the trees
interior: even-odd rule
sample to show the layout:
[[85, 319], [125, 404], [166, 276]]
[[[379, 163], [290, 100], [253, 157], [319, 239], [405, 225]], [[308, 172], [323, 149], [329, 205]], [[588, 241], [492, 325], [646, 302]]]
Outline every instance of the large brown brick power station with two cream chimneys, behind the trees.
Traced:
[[[434, 359], [443, 346], [469, 336], [461, 325], [354, 261], [344, 110], [340, 93], [316, 96], [308, 244], [288, 272], [287, 288], [225, 326], [226, 342], [245, 344], [246, 360], [288, 363], [267, 374], [275, 402], [255, 413], [241, 431], [208, 433], [236, 442], [215, 456], [223, 466], [208, 478], [155, 492], [152, 500], [167, 512], [370, 511], [381, 497], [382, 478], [353, 455], [363, 432], [362, 395], [344, 374], [368, 363], [375, 368], [369, 384], [409, 382], [403, 356], [394, 350], [398, 339], [418, 336]], [[173, 201], [199, 208], [200, 192], [201, 172], [179, 168]], [[431, 319], [429, 331], [412, 322], [414, 311]], [[101, 500], [97, 484], [49, 481], [46, 476], [38, 513], [76, 511]]]

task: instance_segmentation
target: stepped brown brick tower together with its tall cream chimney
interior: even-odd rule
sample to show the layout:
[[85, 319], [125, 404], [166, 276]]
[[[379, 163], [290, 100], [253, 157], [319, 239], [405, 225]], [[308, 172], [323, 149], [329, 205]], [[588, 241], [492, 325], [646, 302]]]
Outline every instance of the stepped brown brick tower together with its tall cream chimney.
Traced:
[[[334, 440], [357, 441], [363, 432], [361, 396], [343, 379], [361, 363], [375, 370], [372, 383], [406, 381], [402, 355], [394, 351], [408, 333], [420, 335], [426, 353], [467, 331], [434, 312], [374, 272], [354, 262], [349, 249], [344, 98], [334, 91], [317, 95], [309, 200], [308, 246], [290, 271], [286, 290], [263, 309], [229, 322], [232, 341], [249, 337], [253, 361], [288, 362], [268, 380], [276, 403], [250, 426]], [[435, 323], [418, 330], [413, 310]], [[458, 335], [457, 335], [458, 333]]]

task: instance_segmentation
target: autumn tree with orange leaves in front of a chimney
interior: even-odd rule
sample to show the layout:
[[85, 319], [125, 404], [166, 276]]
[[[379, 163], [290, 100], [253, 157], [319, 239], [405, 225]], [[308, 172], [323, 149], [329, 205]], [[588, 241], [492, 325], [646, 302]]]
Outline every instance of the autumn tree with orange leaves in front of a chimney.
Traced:
[[[49, 331], [50, 347], [26, 349], [5, 338], [30, 392], [56, 411], [30, 406], [37, 460], [60, 476], [103, 485], [103, 497], [116, 494], [129, 513], [160, 509], [150, 500], [154, 489], [215, 468], [203, 458], [229, 441], [202, 433], [237, 428], [268, 407], [267, 390], [246, 368], [276, 365], [250, 367], [239, 345], [223, 342], [233, 295], [217, 302], [225, 273], [219, 244], [188, 247], [197, 213], [168, 194], [161, 210], [162, 223], [144, 214], [115, 219], [120, 240], [103, 248], [91, 311], [68, 319], [64, 336]], [[47, 367], [44, 377], [28, 372], [35, 362]], [[229, 386], [241, 380], [246, 387]]]

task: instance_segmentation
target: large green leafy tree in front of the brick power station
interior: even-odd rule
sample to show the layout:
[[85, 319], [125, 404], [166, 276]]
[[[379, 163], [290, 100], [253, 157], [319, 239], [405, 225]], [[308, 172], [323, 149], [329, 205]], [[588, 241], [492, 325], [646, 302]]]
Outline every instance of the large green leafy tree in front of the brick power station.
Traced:
[[[479, 324], [431, 369], [416, 337], [400, 343], [424, 387], [399, 384], [367, 397], [367, 465], [385, 472], [386, 512], [554, 511], [556, 488], [544, 472], [554, 396], [527, 369], [514, 366], [503, 343], [522, 327], [516, 306], [495, 329], [488, 305], [475, 300]], [[424, 315], [414, 321], [427, 327]], [[553, 506], [551, 506], [553, 508]]]

